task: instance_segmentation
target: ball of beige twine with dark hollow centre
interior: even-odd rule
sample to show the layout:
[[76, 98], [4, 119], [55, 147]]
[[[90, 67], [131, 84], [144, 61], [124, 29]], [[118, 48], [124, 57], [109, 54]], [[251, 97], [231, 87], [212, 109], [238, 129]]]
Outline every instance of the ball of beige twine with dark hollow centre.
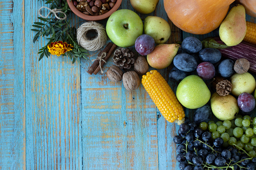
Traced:
[[[86, 35], [88, 31], [96, 30], [97, 36], [93, 40], [89, 40]], [[103, 25], [97, 22], [87, 22], [82, 24], [76, 33], [78, 45], [88, 51], [96, 51], [101, 49], [107, 42], [107, 33]]]

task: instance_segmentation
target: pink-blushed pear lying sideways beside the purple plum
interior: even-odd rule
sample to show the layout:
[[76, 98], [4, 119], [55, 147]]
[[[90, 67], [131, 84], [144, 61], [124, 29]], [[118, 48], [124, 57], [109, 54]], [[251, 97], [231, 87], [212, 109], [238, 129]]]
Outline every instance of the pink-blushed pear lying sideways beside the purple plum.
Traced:
[[178, 49], [178, 44], [159, 44], [147, 55], [148, 64], [156, 69], [164, 69], [173, 62]]

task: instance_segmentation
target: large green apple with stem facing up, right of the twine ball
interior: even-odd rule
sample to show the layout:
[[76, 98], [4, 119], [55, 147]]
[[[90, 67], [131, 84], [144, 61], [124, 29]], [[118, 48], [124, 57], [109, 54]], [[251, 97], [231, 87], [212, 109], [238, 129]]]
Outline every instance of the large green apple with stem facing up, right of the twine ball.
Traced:
[[131, 10], [118, 10], [108, 19], [106, 32], [110, 40], [119, 47], [130, 47], [143, 33], [140, 17]]

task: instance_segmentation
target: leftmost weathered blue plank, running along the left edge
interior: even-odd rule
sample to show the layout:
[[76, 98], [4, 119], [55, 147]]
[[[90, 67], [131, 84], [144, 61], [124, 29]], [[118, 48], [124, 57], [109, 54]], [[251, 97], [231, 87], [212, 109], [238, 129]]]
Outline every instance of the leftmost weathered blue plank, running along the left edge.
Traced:
[[23, 7], [0, 2], [0, 169], [26, 166]]

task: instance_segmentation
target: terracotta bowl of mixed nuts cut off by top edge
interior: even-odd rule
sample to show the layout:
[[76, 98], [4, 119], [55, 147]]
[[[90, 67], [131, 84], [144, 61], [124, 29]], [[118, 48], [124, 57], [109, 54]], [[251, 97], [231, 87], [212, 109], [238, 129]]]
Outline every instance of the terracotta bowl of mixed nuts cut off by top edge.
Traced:
[[71, 11], [87, 21], [104, 20], [120, 7], [122, 0], [67, 0]]

